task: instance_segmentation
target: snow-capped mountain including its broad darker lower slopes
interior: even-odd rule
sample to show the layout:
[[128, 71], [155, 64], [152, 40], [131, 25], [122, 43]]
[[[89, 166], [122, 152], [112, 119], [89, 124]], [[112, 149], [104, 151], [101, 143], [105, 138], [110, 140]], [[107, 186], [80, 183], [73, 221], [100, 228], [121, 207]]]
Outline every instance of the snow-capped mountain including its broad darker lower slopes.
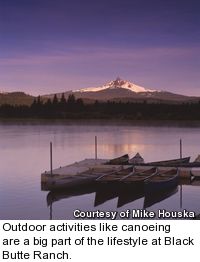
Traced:
[[[73, 89], [73, 87], [72, 87]], [[158, 91], [154, 89], [147, 89], [142, 86], [133, 84], [129, 81], [120, 79], [110, 81], [99, 87], [89, 87], [79, 90], [71, 90], [64, 93], [67, 98], [73, 94], [76, 98], [81, 98], [86, 103], [93, 103], [98, 101], [121, 101], [121, 102], [152, 102], [152, 103], [176, 103], [185, 101], [197, 100], [195, 97], [174, 94], [167, 91]], [[54, 94], [46, 95], [45, 98], [53, 98]], [[58, 98], [61, 93], [57, 93]]]

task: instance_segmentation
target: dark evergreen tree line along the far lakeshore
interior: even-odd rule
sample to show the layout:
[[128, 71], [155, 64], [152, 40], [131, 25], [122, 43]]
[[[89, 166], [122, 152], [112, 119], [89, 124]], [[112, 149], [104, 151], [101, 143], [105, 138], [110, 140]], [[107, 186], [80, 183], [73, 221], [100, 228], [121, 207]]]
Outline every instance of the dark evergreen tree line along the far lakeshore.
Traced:
[[40, 96], [30, 106], [1, 105], [1, 118], [46, 119], [133, 119], [133, 120], [200, 120], [200, 101], [197, 103], [100, 102], [84, 103], [73, 94], [66, 99], [43, 101]]

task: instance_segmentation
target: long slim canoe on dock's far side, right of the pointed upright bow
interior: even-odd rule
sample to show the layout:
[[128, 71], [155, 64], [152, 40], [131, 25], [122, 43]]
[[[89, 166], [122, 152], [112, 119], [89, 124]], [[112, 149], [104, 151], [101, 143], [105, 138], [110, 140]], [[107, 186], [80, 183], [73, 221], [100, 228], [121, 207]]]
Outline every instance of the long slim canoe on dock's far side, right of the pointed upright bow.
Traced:
[[141, 164], [142, 166], [180, 166], [184, 164], [189, 164], [190, 157], [184, 158], [177, 158], [177, 159], [170, 159], [170, 160], [163, 160], [163, 161], [156, 161], [156, 162], [148, 162], [145, 164]]

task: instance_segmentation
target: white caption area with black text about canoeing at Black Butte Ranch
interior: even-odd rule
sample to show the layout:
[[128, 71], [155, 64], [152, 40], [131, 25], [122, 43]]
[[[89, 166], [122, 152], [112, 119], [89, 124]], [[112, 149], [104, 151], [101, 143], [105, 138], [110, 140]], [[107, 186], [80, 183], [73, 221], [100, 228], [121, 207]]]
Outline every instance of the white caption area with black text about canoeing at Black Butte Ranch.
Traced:
[[197, 220], [0, 221], [0, 261], [197, 259]]

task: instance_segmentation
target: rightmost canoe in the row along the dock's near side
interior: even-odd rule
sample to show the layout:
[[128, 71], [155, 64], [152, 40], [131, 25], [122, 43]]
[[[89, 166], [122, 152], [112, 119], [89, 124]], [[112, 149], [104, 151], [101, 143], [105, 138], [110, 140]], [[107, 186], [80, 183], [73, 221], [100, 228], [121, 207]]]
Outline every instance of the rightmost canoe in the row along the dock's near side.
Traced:
[[178, 170], [158, 170], [152, 177], [144, 181], [145, 194], [162, 192], [178, 185]]

